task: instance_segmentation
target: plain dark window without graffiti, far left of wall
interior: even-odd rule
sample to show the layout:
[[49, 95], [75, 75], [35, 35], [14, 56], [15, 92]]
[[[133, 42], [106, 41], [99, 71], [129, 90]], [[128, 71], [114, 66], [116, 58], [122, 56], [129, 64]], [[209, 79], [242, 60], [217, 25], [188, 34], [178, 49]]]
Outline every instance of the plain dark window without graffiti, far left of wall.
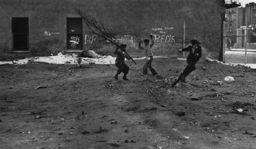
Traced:
[[13, 51], [29, 50], [29, 18], [13, 18]]

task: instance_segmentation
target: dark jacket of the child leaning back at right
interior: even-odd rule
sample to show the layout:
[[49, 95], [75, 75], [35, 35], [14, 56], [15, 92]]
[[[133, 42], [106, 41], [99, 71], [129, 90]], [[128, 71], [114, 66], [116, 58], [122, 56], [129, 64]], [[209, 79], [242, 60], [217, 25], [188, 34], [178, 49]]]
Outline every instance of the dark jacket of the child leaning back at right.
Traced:
[[[192, 63], [195, 63], [201, 58], [201, 46], [198, 46], [194, 52], [193, 52], [193, 46], [188, 46], [187, 48], [182, 49], [182, 52], [189, 51], [190, 54], [187, 55], [187, 62], [190, 61]], [[195, 55], [195, 54], [198, 55]]]

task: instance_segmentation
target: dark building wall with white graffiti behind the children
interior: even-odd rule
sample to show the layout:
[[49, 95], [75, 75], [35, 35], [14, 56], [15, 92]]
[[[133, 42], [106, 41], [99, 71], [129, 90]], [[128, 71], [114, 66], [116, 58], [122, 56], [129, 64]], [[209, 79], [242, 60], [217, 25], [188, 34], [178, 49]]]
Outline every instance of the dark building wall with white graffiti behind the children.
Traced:
[[[207, 52], [218, 52], [220, 43], [221, 0], [1, 0], [0, 55], [27, 57], [50, 55], [66, 51], [66, 18], [79, 17], [67, 2], [85, 14], [93, 15], [114, 32], [128, 51], [140, 53], [138, 41], [155, 35], [155, 55], [176, 52], [170, 38], [178, 46], [198, 39]], [[222, 8], [223, 9], [223, 8]], [[29, 18], [30, 53], [12, 51], [12, 17]], [[50, 34], [49, 34], [50, 33]], [[92, 40], [93, 39], [93, 40]], [[103, 54], [114, 47], [91, 35], [83, 24], [83, 50], [93, 49]]]

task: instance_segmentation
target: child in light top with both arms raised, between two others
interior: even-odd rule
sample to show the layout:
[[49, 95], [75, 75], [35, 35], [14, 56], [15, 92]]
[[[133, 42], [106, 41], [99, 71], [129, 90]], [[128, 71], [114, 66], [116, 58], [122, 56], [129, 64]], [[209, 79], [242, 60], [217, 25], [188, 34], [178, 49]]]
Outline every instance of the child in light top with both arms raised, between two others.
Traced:
[[142, 47], [141, 44], [142, 44], [142, 41], [139, 41], [139, 49], [145, 49], [146, 60], [147, 60], [146, 63], [144, 64], [144, 66], [143, 66], [143, 73], [142, 73], [142, 75], [147, 76], [148, 68], [151, 70], [153, 75], [157, 75], [156, 70], [153, 69], [153, 67], [151, 65], [152, 61], [153, 61], [153, 53], [151, 51], [151, 47], [154, 44], [153, 35], [151, 35], [151, 44], [149, 44], [149, 40], [148, 39], [144, 40], [144, 44], [145, 44], [144, 47]]

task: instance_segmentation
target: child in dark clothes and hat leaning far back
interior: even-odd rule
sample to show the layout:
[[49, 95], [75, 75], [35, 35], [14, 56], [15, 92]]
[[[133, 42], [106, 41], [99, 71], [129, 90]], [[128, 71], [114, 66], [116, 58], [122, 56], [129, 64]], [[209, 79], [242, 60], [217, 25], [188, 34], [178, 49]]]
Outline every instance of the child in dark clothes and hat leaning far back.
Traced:
[[199, 45], [200, 42], [197, 40], [191, 40], [190, 43], [192, 44], [192, 46], [188, 46], [184, 49], [179, 49], [179, 52], [189, 51], [190, 54], [187, 56], [187, 67], [181, 73], [178, 80], [172, 83], [173, 87], [176, 86], [179, 81], [181, 81], [182, 83], [186, 83], [185, 79], [187, 75], [196, 70], [196, 62], [201, 58], [201, 46]]

